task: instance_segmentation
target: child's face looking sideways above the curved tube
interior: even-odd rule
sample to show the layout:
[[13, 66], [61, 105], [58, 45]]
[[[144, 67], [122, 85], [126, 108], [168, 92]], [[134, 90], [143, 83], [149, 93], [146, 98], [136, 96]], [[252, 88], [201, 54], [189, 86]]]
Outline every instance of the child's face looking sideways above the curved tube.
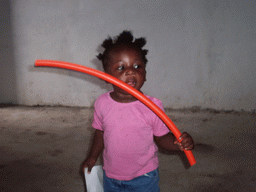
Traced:
[[[109, 54], [106, 72], [140, 91], [146, 80], [146, 66], [141, 52], [125, 46], [116, 47]], [[128, 94], [116, 86], [114, 91]]]

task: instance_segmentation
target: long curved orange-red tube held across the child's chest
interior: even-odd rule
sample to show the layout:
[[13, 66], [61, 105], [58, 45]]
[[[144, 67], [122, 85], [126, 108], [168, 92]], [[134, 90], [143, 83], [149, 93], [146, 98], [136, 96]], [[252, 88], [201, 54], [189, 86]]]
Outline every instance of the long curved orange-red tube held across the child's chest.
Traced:
[[[181, 136], [181, 132], [178, 130], [176, 125], [171, 121], [171, 119], [163, 112], [163, 110], [161, 110], [156, 104], [154, 104], [150, 99], [148, 99], [141, 92], [129, 86], [128, 84], [122, 82], [121, 80], [107, 73], [101, 72], [99, 70], [92, 69], [92, 68], [85, 67], [78, 64], [64, 62], [64, 61], [36, 60], [35, 66], [36, 67], [57, 67], [57, 68], [63, 68], [63, 69], [69, 69], [69, 70], [78, 71], [82, 73], [87, 73], [89, 75], [93, 75], [115, 86], [120, 87], [121, 89], [130, 93], [132, 96], [136, 97], [138, 100], [144, 103], [148, 108], [150, 108], [166, 124], [166, 126], [171, 130], [171, 132], [174, 134], [176, 139], [178, 141], [181, 141], [179, 140], [179, 137]], [[184, 150], [184, 152], [188, 158], [190, 165], [191, 166], [194, 165], [196, 163], [196, 160], [192, 152], [190, 150]]]

